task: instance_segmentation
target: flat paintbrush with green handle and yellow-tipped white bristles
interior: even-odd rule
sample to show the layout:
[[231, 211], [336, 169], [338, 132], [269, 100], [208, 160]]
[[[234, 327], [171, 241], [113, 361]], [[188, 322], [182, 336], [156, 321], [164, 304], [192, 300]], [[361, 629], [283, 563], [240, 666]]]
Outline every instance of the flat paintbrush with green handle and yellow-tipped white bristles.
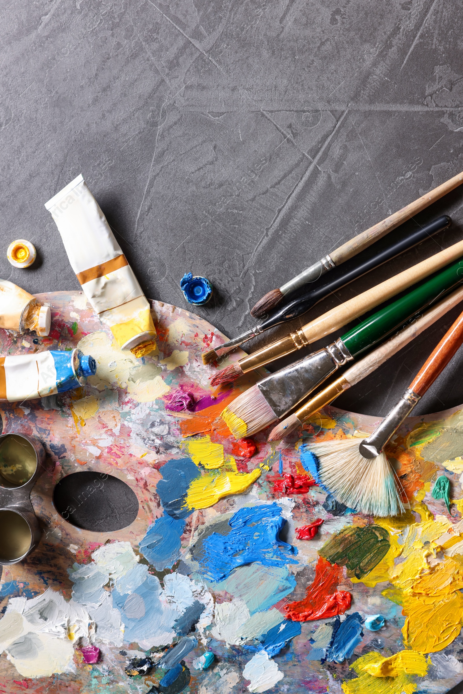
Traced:
[[384, 339], [417, 311], [439, 301], [451, 287], [460, 284], [462, 262], [453, 263], [421, 287], [369, 316], [328, 347], [272, 373], [241, 393], [220, 415], [235, 438], [252, 436], [282, 419], [339, 366]]

